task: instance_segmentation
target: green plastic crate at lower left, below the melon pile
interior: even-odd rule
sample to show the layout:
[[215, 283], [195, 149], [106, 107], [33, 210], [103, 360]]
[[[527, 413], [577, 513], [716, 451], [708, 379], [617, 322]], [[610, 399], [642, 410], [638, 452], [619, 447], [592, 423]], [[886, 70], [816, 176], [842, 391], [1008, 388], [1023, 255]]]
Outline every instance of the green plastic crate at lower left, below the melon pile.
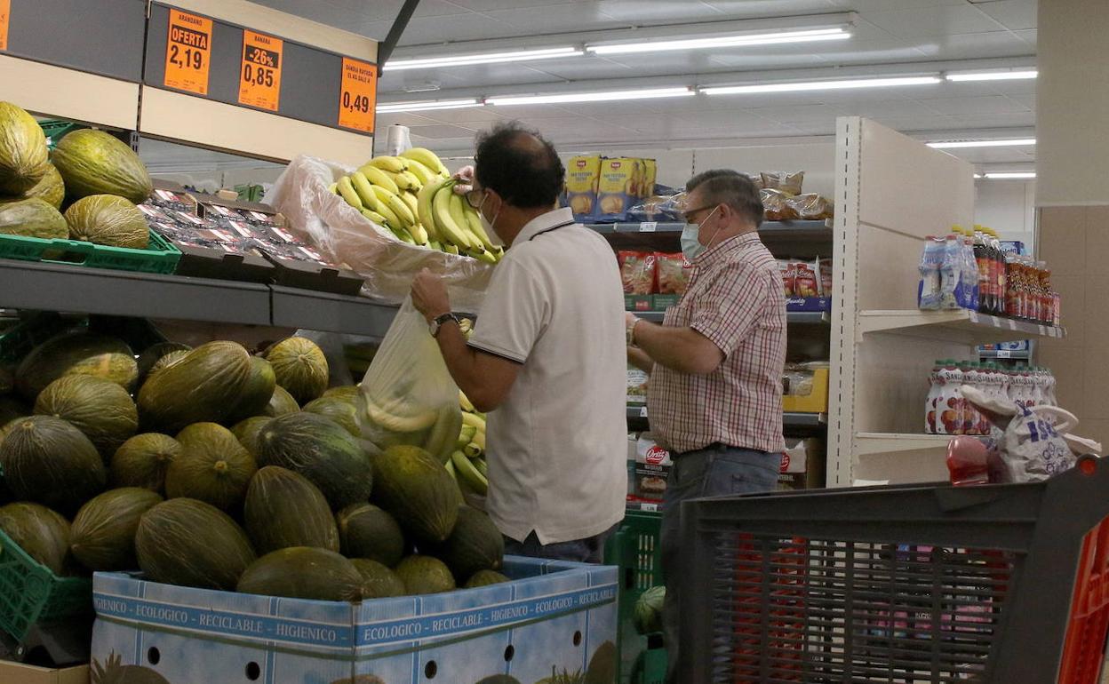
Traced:
[[92, 580], [59, 578], [0, 531], [0, 630], [22, 642], [35, 624], [92, 610]]

